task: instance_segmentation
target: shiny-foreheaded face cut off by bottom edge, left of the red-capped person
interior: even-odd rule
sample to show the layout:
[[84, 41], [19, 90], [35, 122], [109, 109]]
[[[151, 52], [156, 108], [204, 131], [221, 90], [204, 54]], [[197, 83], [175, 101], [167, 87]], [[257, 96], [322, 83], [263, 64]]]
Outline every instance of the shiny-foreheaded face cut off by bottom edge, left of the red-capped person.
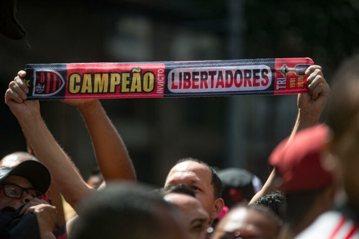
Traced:
[[252, 209], [237, 208], [220, 221], [213, 238], [219, 239], [224, 235], [236, 235], [270, 239], [276, 238], [277, 233], [276, 224], [269, 218]]

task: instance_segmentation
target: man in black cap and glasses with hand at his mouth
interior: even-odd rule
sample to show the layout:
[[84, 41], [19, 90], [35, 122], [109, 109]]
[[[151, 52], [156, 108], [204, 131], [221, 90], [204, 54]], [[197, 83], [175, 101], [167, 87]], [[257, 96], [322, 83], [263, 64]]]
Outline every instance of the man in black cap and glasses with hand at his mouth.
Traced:
[[55, 238], [56, 208], [45, 201], [51, 178], [34, 160], [0, 167], [0, 238]]

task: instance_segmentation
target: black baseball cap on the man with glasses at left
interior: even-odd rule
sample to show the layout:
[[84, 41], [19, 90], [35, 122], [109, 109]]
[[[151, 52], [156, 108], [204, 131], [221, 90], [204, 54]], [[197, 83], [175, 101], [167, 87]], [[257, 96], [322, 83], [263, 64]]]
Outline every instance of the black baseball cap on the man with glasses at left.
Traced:
[[42, 163], [35, 160], [27, 160], [19, 163], [16, 167], [0, 167], [0, 184], [8, 176], [25, 177], [35, 190], [45, 194], [51, 183], [48, 169]]

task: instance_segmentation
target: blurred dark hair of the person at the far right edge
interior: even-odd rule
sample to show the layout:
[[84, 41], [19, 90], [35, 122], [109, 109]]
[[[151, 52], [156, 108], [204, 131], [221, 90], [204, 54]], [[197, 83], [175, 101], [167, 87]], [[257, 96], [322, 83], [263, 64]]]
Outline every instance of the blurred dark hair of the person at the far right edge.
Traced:
[[344, 61], [334, 73], [332, 82], [327, 124], [335, 140], [347, 131], [359, 111], [359, 55]]

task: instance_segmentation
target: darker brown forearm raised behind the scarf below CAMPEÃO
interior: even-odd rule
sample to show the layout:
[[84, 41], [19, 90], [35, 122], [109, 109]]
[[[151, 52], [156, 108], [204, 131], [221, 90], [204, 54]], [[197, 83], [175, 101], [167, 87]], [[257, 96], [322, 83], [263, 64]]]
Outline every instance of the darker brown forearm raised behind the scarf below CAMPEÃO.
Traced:
[[122, 138], [98, 100], [79, 106], [89, 130], [96, 159], [105, 181], [136, 181], [136, 174]]

